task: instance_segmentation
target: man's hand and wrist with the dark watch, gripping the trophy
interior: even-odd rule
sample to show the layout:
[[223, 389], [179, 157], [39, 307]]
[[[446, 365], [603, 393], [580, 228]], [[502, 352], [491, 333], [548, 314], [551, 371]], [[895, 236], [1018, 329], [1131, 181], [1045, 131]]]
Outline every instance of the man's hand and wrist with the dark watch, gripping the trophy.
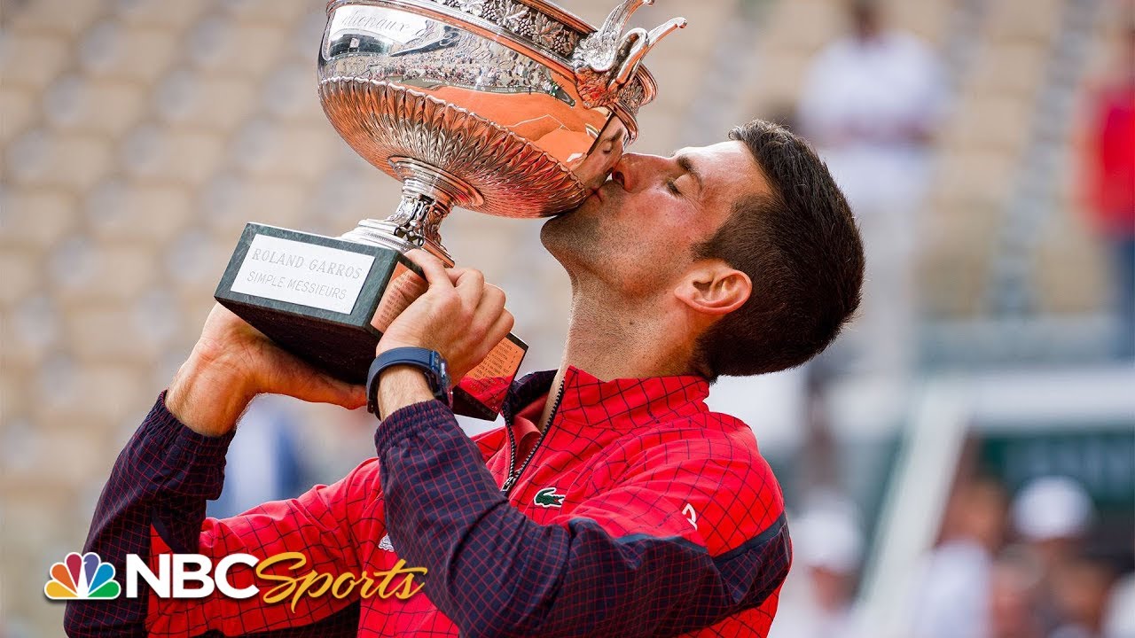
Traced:
[[[421, 267], [429, 287], [390, 322], [376, 354], [405, 346], [436, 350], [445, 358], [449, 378], [456, 384], [512, 329], [512, 313], [504, 309], [504, 291], [486, 284], [478, 270], [446, 269], [426, 251], [410, 251], [406, 257]], [[380, 376], [381, 418], [431, 397], [420, 371], [394, 366]]]

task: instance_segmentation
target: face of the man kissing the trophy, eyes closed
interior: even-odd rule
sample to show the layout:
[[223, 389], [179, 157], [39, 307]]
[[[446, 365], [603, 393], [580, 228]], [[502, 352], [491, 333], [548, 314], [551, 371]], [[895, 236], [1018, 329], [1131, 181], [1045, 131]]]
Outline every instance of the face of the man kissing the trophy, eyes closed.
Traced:
[[596, 277], [629, 296], [669, 288], [695, 261], [738, 199], [768, 193], [741, 142], [681, 149], [664, 158], [627, 153], [574, 211], [545, 224], [541, 240], [573, 276]]

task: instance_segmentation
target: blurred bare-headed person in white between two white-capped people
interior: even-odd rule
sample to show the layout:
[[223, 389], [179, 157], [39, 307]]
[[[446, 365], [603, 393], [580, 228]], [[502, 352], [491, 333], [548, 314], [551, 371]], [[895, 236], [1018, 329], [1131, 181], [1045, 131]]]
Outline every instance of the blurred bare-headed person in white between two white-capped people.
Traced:
[[1004, 539], [1007, 502], [1000, 484], [978, 479], [955, 489], [942, 543], [927, 556], [913, 605], [916, 638], [989, 635], [993, 557]]

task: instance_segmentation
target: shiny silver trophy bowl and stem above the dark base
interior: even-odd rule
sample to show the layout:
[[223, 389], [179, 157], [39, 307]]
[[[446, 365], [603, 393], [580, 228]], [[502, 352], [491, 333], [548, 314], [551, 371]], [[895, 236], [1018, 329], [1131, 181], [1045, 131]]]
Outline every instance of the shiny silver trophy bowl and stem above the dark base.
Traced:
[[686, 24], [624, 34], [631, 14], [651, 2], [624, 1], [598, 31], [544, 0], [330, 2], [323, 111], [360, 156], [404, 185], [398, 215], [365, 220], [358, 234], [409, 236], [448, 260], [437, 226], [453, 205], [545, 217], [580, 204], [654, 99], [644, 56]]

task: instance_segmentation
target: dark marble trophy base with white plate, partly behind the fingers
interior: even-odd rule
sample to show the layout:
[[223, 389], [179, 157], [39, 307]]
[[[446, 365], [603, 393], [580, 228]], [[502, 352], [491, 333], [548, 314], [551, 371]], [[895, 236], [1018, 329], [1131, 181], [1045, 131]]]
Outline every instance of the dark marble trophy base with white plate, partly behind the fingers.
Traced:
[[[215, 297], [284, 350], [362, 384], [382, 330], [426, 287], [400, 251], [249, 224]], [[494, 420], [528, 345], [513, 335], [453, 388], [454, 412]]]

